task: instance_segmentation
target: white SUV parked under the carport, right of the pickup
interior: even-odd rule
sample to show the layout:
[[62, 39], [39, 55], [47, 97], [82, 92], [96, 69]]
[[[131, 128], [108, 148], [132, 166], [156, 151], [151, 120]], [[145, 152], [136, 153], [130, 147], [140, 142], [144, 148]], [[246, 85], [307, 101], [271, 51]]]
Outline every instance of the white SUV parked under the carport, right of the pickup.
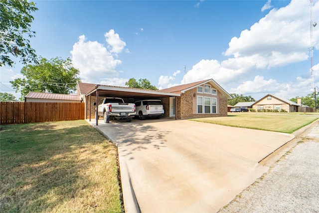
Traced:
[[135, 102], [136, 116], [140, 120], [146, 117], [160, 118], [164, 115], [164, 107], [160, 100], [141, 100]]

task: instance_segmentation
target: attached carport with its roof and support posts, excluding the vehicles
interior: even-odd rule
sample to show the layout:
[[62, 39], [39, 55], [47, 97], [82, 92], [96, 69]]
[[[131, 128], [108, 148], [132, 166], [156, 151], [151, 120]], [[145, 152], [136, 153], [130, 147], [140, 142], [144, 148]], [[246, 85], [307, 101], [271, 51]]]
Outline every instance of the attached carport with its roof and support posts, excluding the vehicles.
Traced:
[[[170, 93], [170, 92], [159, 92], [156, 90], [145, 90], [137, 88], [119, 87], [119, 86], [107, 86], [97, 84], [90, 92], [86, 94], [86, 109], [88, 109], [89, 104], [89, 120], [91, 121], [91, 110], [92, 110], [92, 96], [96, 96], [98, 103], [99, 97], [120, 97], [123, 99], [130, 100], [129, 102], [143, 100], [143, 99], [154, 99], [154, 98], [169, 98], [169, 101], [174, 101], [173, 104], [170, 103], [169, 110], [176, 112], [176, 98], [180, 97], [180, 94]], [[174, 109], [172, 109], [172, 107]], [[87, 118], [87, 110], [85, 110], [85, 117]], [[176, 114], [175, 114], [176, 119]], [[99, 125], [98, 111], [95, 112], [96, 124]]]

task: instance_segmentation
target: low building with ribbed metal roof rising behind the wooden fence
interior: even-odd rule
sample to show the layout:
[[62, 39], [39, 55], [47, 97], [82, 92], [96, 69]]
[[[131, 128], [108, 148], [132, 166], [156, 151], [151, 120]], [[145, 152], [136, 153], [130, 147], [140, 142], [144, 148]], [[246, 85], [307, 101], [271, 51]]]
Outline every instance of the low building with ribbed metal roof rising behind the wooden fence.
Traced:
[[25, 102], [67, 102], [81, 103], [80, 95], [55, 94], [46, 92], [29, 92], [25, 98]]

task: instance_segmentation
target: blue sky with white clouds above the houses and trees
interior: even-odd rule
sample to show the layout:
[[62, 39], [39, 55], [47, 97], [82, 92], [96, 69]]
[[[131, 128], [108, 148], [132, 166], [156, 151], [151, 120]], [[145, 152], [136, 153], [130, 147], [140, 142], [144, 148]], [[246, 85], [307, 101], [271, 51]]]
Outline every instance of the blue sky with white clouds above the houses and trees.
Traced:
[[[282, 98], [311, 88], [310, 0], [35, 0], [30, 44], [47, 59], [70, 58], [84, 83], [164, 89], [213, 79], [228, 93]], [[319, 23], [319, 0], [312, 22]], [[319, 87], [319, 24], [313, 27]], [[23, 77], [0, 67], [0, 92]]]

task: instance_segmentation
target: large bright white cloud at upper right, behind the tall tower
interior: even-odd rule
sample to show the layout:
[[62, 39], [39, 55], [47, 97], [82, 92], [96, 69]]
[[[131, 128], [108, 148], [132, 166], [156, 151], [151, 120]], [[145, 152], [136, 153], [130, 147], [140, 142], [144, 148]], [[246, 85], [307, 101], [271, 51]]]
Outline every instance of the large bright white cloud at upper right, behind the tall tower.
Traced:
[[[314, 5], [314, 14], [319, 13], [318, 5], [319, 1]], [[249, 30], [243, 30], [240, 37], [233, 37], [224, 54], [239, 60], [255, 58], [256, 68], [260, 64], [270, 68], [307, 60], [309, 9], [308, 1], [292, 0], [286, 7], [271, 10]], [[314, 33], [314, 43], [318, 37], [319, 31]]]

